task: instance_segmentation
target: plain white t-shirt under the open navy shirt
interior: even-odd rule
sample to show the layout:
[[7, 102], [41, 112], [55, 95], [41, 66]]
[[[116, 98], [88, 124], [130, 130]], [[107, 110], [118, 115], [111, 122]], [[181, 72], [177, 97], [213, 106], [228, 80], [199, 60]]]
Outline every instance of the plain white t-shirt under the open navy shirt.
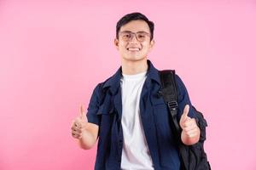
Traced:
[[141, 122], [139, 102], [146, 71], [136, 75], [125, 75], [121, 78], [122, 88], [122, 128], [124, 144], [122, 151], [121, 169], [151, 170], [152, 159]]

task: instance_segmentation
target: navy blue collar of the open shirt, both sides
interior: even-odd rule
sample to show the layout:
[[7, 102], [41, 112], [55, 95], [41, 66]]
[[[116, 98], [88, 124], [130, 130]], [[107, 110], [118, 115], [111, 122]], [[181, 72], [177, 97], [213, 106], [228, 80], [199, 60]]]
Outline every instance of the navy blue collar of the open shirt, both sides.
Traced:
[[[147, 71], [147, 78], [150, 78], [160, 84], [160, 77], [159, 77], [159, 71], [154, 68], [154, 65], [151, 63], [151, 61], [148, 59], [148, 71]], [[122, 77], [122, 67], [120, 66], [118, 71], [115, 72], [115, 74], [112, 77], [109, 77], [108, 80], [103, 84], [102, 88], [110, 88], [111, 92], [115, 94], [120, 86], [120, 79]]]

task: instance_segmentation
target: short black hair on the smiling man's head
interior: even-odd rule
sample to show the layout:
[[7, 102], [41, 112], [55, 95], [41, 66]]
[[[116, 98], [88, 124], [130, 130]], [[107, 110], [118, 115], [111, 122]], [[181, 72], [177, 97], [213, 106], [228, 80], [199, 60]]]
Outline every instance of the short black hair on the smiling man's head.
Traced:
[[124, 26], [128, 22], [131, 22], [132, 20], [144, 20], [147, 22], [149, 30], [150, 30], [150, 41], [154, 37], [154, 22], [151, 20], [148, 20], [148, 18], [141, 13], [131, 13], [131, 14], [125, 14], [116, 24], [116, 38], [119, 38], [119, 31], [121, 26]]

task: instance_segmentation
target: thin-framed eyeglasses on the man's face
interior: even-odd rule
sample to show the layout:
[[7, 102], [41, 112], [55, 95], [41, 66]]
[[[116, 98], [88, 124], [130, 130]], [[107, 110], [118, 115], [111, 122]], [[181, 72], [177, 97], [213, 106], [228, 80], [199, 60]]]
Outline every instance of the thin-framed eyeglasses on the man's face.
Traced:
[[147, 37], [150, 36], [150, 34], [145, 31], [122, 31], [119, 33], [119, 35], [125, 42], [130, 42], [134, 36], [136, 36], [138, 42], [144, 42], [147, 39]]

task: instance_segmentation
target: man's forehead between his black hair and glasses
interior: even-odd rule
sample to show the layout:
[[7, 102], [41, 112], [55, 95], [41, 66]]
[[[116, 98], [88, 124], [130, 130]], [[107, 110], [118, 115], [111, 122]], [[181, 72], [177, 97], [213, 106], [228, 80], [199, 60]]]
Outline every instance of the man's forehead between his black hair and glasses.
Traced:
[[132, 20], [131, 22], [128, 22], [124, 26], [121, 26], [120, 31], [146, 31], [149, 32], [149, 27], [147, 22], [144, 20]]

